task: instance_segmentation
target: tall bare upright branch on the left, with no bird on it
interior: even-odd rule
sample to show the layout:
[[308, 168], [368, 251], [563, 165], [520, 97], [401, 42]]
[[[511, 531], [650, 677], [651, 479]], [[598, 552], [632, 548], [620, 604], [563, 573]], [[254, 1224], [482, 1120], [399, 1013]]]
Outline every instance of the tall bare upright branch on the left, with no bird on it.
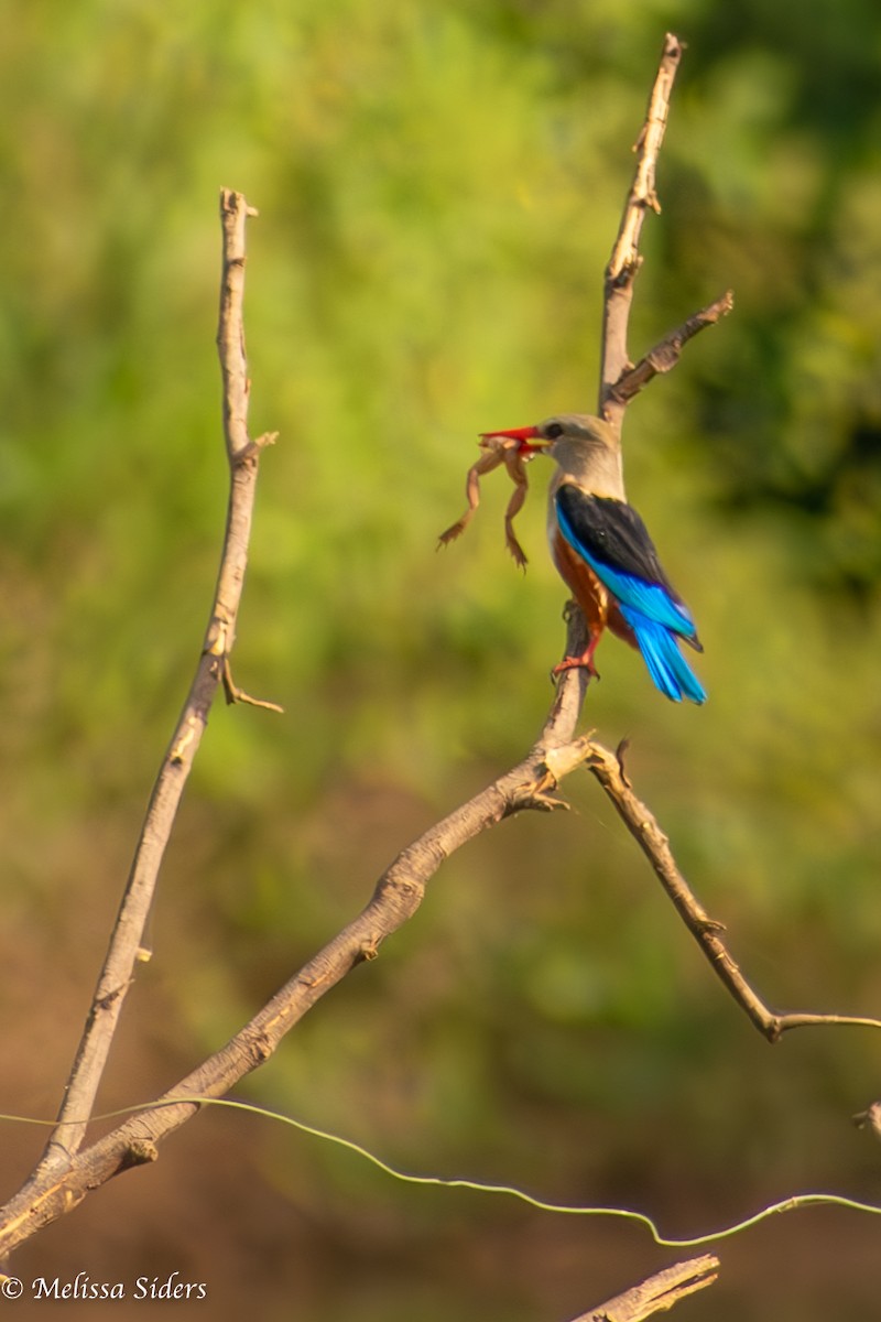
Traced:
[[[230, 463], [230, 501], [226, 535], [211, 617], [198, 661], [195, 678], [153, 787], [147, 816], [135, 850], [131, 874], [98, 986], [92, 997], [79, 1050], [65, 1088], [58, 1122], [44, 1158], [34, 1173], [63, 1167], [79, 1149], [86, 1133], [114, 1032], [132, 984], [135, 966], [143, 960], [144, 927], [153, 903], [156, 880], [172, 832], [181, 795], [207, 722], [211, 699], [221, 680], [222, 665], [232, 648], [235, 620], [242, 598], [251, 531], [251, 513], [262, 442], [247, 435], [248, 377], [244, 358], [242, 300], [244, 291], [244, 225], [256, 214], [239, 193], [225, 190], [221, 197], [223, 223], [223, 270], [218, 352], [223, 374], [223, 427]], [[269, 438], [265, 438], [268, 442]]]

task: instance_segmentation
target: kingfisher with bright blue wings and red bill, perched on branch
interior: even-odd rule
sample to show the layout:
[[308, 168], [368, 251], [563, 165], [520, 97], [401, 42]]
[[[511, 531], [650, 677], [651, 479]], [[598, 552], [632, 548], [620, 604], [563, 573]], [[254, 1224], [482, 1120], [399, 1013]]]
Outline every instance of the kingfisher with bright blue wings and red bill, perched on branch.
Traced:
[[548, 541], [564, 583], [581, 607], [589, 642], [555, 674], [576, 666], [598, 678], [593, 654], [609, 628], [642, 653], [655, 686], [674, 702], [707, 701], [680, 642], [703, 652], [688, 607], [664, 574], [649, 529], [627, 504], [621, 446], [601, 418], [559, 414], [535, 427], [487, 431], [507, 436], [526, 456], [556, 463], [548, 490]]

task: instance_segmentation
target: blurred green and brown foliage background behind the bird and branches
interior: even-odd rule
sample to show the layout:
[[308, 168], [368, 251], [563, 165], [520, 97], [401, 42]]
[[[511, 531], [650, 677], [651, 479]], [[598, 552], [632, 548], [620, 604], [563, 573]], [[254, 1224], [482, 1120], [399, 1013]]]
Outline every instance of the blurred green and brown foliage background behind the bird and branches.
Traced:
[[[667, 703], [606, 640], [585, 723], [630, 738], [638, 791], [773, 1006], [878, 1015], [877, 5], [0, 13], [1, 1109], [55, 1110], [202, 639], [226, 502], [221, 186], [260, 209], [251, 422], [280, 432], [235, 674], [285, 715], [213, 714], [106, 1108], [225, 1042], [540, 727], [565, 595], [544, 469], [526, 576], [501, 473], [465, 538], [437, 554], [436, 535], [478, 431], [596, 403], [602, 268], [667, 29], [688, 50], [631, 349], [726, 287], [736, 311], [634, 403], [626, 469], [711, 701]], [[668, 1235], [802, 1190], [877, 1202], [881, 1149], [848, 1122], [881, 1092], [877, 1035], [770, 1048], [598, 788], [565, 791], [571, 814], [450, 859], [240, 1096], [408, 1170], [629, 1206]], [[12, 1192], [42, 1136], [1, 1137]], [[682, 1317], [874, 1317], [878, 1247], [852, 1212], [777, 1219], [721, 1248], [722, 1281]], [[178, 1270], [217, 1318], [551, 1322], [676, 1256], [218, 1110], [13, 1269]]]

